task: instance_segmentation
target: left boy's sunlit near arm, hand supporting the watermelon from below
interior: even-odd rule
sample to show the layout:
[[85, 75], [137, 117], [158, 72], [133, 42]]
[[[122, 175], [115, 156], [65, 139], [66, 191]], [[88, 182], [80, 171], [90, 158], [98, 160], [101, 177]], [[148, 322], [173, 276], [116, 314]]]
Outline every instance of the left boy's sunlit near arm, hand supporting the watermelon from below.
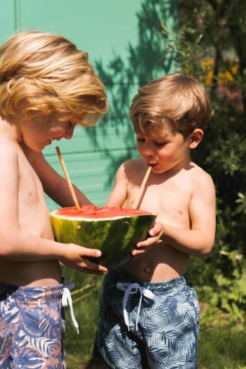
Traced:
[[76, 244], [63, 244], [40, 238], [21, 228], [19, 223], [19, 158], [16, 149], [1, 143], [0, 163], [0, 258], [16, 261], [57, 259], [81, 272], [101, 275], [106, 268], [86, 257], [98, 257], [101, 252]]

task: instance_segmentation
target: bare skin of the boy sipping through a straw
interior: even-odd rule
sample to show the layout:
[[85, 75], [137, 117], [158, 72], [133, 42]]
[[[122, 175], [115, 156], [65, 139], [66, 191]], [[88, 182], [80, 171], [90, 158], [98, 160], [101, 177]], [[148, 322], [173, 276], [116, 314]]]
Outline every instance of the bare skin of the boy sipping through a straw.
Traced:
[[214, 244], [215, 189], [210, 176], [190, 159], [203, 137], [196, 129], [184, 138], [166, 129], [157, 137], [137, 134], [141, 159], [118, 169], [107, 205], [132, 207], [148, 166], [152, 171], [139, 209], [157, 214], [147, 240], [121, 268], [136, 278], [162, 282], [183, 275], [190, 255], [204, 256]]

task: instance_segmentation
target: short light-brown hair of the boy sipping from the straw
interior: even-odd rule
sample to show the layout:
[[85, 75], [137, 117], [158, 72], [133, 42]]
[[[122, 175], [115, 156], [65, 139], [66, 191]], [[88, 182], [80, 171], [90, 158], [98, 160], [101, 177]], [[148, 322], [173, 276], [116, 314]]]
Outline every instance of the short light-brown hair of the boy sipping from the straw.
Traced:
[[136, 133], [158, 136], [165, 126], [184, 137], [203, 129], [211, 104], [202, 85], [180, 73], [157, 78], [138, 90], [130, 107]]

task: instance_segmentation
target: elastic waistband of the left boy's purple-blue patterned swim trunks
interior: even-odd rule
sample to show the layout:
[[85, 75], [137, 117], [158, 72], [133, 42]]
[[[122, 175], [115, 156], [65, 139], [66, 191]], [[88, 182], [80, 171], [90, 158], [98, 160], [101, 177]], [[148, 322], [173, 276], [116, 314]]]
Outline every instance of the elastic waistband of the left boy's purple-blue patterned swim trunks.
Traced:
[[61, 283], [56, 286], [25, 287], [15, 286], [0, 281], [0, 295], [6, 297], [11, 295], [15, 300], [23, 303], [40, 303], [40, 301], [46, 302], [50, 300], [59, 300], [62, 298], [63, 282], [64, 279], [62, 279]]

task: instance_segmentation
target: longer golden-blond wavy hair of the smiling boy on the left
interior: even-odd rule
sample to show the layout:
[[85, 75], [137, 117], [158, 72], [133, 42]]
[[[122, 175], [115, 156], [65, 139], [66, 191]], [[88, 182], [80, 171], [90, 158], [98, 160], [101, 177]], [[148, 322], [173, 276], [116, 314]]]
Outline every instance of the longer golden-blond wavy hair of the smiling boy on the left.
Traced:
[[108, 111], [103, 83], [86, 52], [64, 37], [29, 31], [12, 36], [0, 47], [0, 115], [56, 116], [59, 120], [86, 115], [92, 126]]

